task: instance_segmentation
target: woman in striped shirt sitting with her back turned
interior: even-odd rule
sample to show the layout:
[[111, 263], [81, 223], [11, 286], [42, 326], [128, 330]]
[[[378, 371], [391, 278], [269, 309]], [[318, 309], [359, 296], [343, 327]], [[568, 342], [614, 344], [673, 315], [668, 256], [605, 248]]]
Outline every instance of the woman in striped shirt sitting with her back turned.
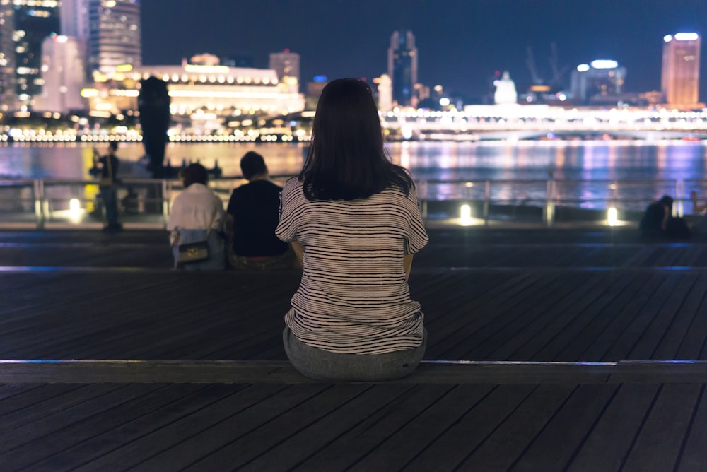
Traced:
[[385, 153], [366, 82], [339, 79], [322, 90], [305, 165], [282, 191], [276, 235], [303, 265], [283, 331], [300, 373], [375, 382], [417, 367], [426, 330], [407, 281], [428, 237], [414, 182]]

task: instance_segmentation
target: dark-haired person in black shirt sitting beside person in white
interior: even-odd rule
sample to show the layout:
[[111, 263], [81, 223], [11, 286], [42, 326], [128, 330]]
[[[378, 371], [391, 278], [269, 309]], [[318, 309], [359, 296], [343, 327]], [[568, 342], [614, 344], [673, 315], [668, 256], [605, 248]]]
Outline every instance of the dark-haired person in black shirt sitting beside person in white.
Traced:
[[295, 254], [275, 236], [282, 187], [269, 179], [262, 155], [248, 151], [240, 159], [248, 183], [233, 190], [228, 201], [228, 264], [233, 269], [291, 269]]

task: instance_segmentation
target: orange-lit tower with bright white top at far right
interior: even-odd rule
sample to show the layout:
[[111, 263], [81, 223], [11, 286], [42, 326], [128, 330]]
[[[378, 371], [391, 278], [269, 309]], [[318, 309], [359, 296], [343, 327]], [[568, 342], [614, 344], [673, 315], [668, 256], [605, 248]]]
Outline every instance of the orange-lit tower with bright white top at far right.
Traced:
[[699, 102], [700, 37], [677, 33], [663, 37], [661, 91], [668, 105], [689, 108]]

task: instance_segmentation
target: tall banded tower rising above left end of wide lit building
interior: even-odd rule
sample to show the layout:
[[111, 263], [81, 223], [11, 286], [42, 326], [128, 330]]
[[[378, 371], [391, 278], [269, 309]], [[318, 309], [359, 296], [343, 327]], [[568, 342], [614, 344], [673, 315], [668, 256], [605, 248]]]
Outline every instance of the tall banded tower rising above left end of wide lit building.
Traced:
[[142, 65], [139, 0], [88, 0], [88, 64], [101, 72]]

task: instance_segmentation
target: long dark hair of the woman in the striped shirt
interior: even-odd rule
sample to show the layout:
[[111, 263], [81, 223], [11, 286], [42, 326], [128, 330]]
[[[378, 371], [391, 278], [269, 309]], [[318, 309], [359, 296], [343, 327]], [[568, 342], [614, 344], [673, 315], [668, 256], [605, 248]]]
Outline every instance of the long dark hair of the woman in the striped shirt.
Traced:
[[312, 124], [312, 144], [299, 176], [308, 200], [365, 199], [414, 183], [385, 153], [378, 108], [370, 87], [339, 78], [322, 90]]

